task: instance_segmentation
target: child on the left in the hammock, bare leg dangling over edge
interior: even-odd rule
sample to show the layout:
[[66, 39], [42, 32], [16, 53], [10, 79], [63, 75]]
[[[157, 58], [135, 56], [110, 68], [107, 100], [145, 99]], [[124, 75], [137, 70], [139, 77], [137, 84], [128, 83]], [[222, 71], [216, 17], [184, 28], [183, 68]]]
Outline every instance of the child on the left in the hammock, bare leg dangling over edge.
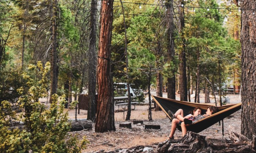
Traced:
[[[183, 110], [179, 109], [175, 114], [173, 114], [171, 111], [168, 111], [168, 115], [171, 117], [172, 119], [172, 129], [171, 129], [171, 133], [169, 135], [169, 139], [173, 139], [173, 135], [176, 131], [177, 125], [181, 124], [182, 122], [184, 122], [184, 120], [194, 120], [194, 118], [198, 115], [200, 115], [202, 112], [201, 108], [196, 107], [194, 108], [192, 111], [190, 111], [187, 116], [183, 117]], [[186, 121], [187, 123], [187, 121]]]

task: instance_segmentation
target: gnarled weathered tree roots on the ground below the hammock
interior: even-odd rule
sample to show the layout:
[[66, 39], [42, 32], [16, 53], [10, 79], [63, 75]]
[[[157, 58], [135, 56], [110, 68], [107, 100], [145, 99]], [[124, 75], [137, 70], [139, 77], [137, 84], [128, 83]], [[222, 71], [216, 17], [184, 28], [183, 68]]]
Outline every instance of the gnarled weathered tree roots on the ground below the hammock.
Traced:
[[213, 139], [205, 140], [204, 135], [199, 135], [194, 132], [188, 131], [188, 133], [181, 139], [166, 140], [164, 142], [152, 144], [149, 146], [135, 146], [128, 149], [116, 149], [113, 151], [100, 150], [95, 153], [131, 153], [131, 152], [143, 152], [148, 149], [148, 153], [255, 153], [253, 149], [254, 141], [250, 142], [248, 138], [237, 133], [234, 128], [229, 128], [230, 140], [221, 142], [223, 140], [217, 140], [218, 144], [211, 142]]

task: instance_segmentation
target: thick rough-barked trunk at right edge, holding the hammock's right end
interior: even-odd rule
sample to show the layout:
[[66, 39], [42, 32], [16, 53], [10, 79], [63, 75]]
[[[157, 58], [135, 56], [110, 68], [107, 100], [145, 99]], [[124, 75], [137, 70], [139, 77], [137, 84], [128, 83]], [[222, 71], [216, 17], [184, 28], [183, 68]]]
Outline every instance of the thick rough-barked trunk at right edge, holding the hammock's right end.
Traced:
[[[242, 9], [256, 8], [254, 0], [241, 1]], [[256, 14], [253, 10], [242, 13], [241, 46], [242, 46], [242, 114], [241, 133], [253, 138], [256, 135]]]

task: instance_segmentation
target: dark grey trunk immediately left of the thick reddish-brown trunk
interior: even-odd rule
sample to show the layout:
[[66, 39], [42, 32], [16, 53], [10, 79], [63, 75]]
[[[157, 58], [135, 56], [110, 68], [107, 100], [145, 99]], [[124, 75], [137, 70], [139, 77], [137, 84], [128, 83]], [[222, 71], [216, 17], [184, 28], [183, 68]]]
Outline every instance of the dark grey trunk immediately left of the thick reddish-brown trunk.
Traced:
[[88, 60], [88, 95], [89, 95], [89, 110], [87, 120], [94, 120], [96, 118], [95, 110], [95, 94], [96, 94], [96, 36], [97, 36], [97, 0], [91, 1], [91, 15], [90, 15], [90, 42], [89, 42], [89, 60]]

